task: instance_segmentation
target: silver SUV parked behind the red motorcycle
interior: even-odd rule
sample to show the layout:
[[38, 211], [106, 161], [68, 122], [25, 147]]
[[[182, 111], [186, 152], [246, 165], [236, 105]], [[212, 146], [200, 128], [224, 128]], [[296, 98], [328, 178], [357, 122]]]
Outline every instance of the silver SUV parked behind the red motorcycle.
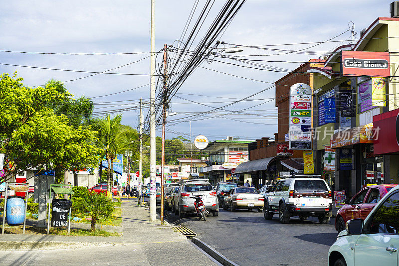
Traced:
[[195, 212], [193, 196], [200, 196], [206, 210], [212, 212], [213, 216], [219, 214], [216, 191], [208, 181], [204, 180], [183, 181], [172, 202], [172, 211], [175, 211], [180, 218], [183, 218], [185, 213]]

